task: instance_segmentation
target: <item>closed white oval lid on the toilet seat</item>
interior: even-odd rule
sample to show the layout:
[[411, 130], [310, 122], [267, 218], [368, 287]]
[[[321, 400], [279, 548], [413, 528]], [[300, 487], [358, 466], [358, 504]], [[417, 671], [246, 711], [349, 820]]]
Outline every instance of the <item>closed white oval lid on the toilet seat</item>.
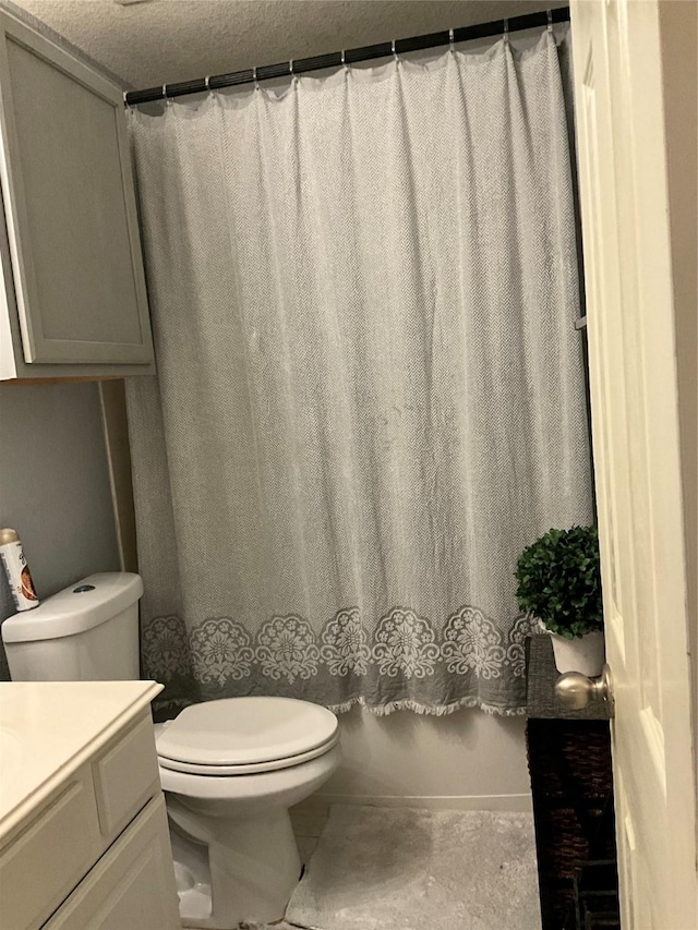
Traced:
[[224, 698], [192, 704], [157, 738], [164, 759], [198, 765], [251, 765], [299, 756], [328, 742], [337, 717], [293, 698]]

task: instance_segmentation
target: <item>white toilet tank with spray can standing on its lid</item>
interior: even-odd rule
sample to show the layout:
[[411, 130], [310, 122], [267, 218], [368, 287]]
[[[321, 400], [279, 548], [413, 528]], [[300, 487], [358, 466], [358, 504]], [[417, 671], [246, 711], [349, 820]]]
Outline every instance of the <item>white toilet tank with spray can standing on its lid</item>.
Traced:
[[2, 624], [13, 681], [134, 680], [140, 575], [91, 575]]

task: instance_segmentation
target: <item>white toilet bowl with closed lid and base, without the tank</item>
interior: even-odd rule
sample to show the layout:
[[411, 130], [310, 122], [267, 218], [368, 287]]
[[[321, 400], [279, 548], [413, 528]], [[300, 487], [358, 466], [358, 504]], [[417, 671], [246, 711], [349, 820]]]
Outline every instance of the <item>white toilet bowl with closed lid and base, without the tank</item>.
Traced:
[[337, 718], [289, 698], [230, 698], [155, 725], [185, 927], [284, 917], [301, 861], [288, 809], [339, 763]]

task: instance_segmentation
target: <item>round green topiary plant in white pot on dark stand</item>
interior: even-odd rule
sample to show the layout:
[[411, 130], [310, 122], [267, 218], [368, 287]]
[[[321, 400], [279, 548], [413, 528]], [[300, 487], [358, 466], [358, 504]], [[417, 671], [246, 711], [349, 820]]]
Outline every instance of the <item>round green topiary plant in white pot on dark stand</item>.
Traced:
[[550, 530], [524, 549], [516, 580], [519, 607], [552, 636], [557, 671], [600, 675], [603, 608], [595, 527]]

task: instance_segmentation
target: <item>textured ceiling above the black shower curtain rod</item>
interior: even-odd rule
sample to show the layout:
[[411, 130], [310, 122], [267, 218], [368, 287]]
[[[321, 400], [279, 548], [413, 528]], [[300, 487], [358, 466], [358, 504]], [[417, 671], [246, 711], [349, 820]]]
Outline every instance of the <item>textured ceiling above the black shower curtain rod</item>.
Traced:
[[13, 2], [132, 87], [273, 64], [551, 5], [539, 0], [146, 0], [125, 7], [113, 0]]

